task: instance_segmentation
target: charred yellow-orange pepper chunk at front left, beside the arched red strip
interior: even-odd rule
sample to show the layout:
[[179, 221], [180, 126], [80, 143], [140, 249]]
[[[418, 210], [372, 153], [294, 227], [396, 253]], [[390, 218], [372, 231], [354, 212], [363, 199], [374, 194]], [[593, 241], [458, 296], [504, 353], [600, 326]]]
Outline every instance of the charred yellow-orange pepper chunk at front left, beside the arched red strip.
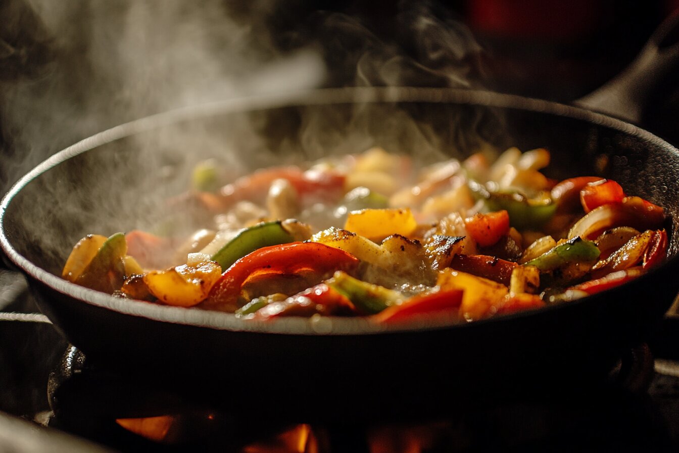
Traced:
[[215, 261], [204, 261], [197, 266], [183, 264], [168, 270], [152, 271], [144, 276], [149, 291], [160, 302], [178, 307], [200, 304], [221, 276]]

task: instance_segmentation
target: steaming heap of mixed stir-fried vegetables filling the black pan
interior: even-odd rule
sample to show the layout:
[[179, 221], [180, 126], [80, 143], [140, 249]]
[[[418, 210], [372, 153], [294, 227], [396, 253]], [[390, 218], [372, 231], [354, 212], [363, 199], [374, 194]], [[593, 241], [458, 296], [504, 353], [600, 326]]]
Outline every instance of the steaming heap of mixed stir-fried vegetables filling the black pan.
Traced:
[[86, 236], [62, 277], [241, 319], [454, 323], [568, 303], [663, 262], [663, 208], [611, 179], [553, 181], [540, 173], [549, 160], [546, 149], [511, 148], [494, 162], [477, 153], [416, 171], [375, 147], [221, 189], [225, 172], [201, 162], [189, 198], [213, 224]]

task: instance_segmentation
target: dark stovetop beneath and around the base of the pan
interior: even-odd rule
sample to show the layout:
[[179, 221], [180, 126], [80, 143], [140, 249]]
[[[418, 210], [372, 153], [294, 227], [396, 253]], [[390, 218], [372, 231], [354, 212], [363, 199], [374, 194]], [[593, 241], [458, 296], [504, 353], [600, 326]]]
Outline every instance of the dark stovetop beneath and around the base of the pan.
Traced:
[[[267, 414], [257, 414], [256, 410], [244, 421], [238, 414], [230, 414], [227, 407], [204, 407], [181, 391], [173, 393], [161, 386], [149, 385], [143, 378], [132, 377], [134, 373], [119, 374], [96, 364], [89, 365], [79, 351], [69, 348], [44, 316], [32, 314], [35, 305], [23, 277], [7, 270], [1, 272], [0, 410], [3, 412], [121, 450], [153, 447], [158, 451], [175, 451], [186, 445], [211, 450], [240, 448], [243, 443], [261, 440], [261, 436], [268, 439], [285, 431], [285, 420], [267, 421]], [[656, 338], [652, 344], [655, 348], [655, 344], [660, 343], [661, 347], [655, 349], [661, 350], [665, 357], [679, 352], [678, 343], [674, 343], [674, 347], [667, 344], [673, 341], [669, 336], [676, 332], [672, 330], [672, 321], [668, 319], [664, 324], [665, 338]], [[424, 436], [430, 448], [426, 451], [488, 448], [648, 451], [649, 445], [655, 446], [656, 451], [676, 451], [679, 446], [679, 364], [657, 357], [653, 372], [644, 348], [633, 352], [635, 359], [623, 358], [621, 367], [612, 370], [603, 387], [554, 388], [547, 395], [521, 401], [497, 401], [471, 413], [456, 414], [452, 408], [436, 418], [413, 419], [408, 414], [398, 414], [396, 422], [312, 424], [311, 429], [314, 439], [323, 439], [333, 446], [329, 451], [347, 451], [347, 448], [369, 451], [369, 441], [373, 442], [376, 437], [387, 433], [391, 439], [394, 433], [401, 436], [404, 432]], [[536, 378], [549, 379], [549, 376]], [[141, 411], [141, 415], [154, 411], [179, 414], [172, 426], [181, 435], [175, 435], [174, 444], [163, 446], [127, 433], [115, 424], [115, 418], [128, 417], [134, 411]], [[258, 420], [255, 429], [251, 424], [253, 419]], [[14, 422], [5, 415], [2, 421]], [[8, 448], [16, 440], [3, 435], [2, 425], [0, 422], [0, 447]], [[206, 437], [206, 433], [214, 437]], [[62, 437], [59, 440], [64, 441]], [[30, 450], [19, 451], [53, 451], [51, 444], [48, 445], [37, 443]], [[77, 447], [82, 445], [73, 446]]]

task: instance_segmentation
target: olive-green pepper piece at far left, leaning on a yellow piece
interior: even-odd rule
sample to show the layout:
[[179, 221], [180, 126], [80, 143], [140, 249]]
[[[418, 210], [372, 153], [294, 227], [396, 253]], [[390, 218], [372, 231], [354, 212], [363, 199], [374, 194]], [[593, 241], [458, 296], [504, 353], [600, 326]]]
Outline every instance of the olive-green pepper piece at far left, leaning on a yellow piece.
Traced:
[[109, 294], [119, 290], [125, 280], [123, 258], [126, 253], [125, 235], [122, 233], [111, 235], [83, 272], [75, 278], [74, 283]]

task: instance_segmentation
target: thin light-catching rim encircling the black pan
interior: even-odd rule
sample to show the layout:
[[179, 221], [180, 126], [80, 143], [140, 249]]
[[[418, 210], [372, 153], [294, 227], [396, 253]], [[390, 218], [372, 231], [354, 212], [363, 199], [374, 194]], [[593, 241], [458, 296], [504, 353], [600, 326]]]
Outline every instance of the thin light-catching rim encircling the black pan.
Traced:
[[[441, 322], [412, 323], [409, 325], [385, 326], [372, 323], [368, 319], [357, 318], [321, 318], [320, 320], [310, 320], [304, 318], [283, 318], [273, 322], [261, 322], [252, 320], [238, 319], [234, 314], [200, 310], [198, 308], [181, 308], [172, 306], [161, 306], [149, 304], [147, 302], [126, 300], [113, 297], [105, 293], [100, 293], [92, 289], [87, 289], [63, 280], [59, 276], [43, 270], [33, 262], [20, 255], [12, 246], [9, 238], [5, 234], [5, 213], [14, 197], [43, 173], [47, 172], [61, 162], [65, 162], [81, 153], [85, 153], [100, 145], [111, 143], [124, 137], [139, 134], [147, 130], [153, 130], [170, 124], [178, 124], [187, 120], [195, 120], [200, 117], [212, 115], [235, 113], [237, 111], [256, 111], [260, 109], [273, 109], [292, 105], [331, 105], [341, 103], [456, 103], [460, 105], [481, 105], [484, 107], [500, 107], [507, 109], [519, 109], [524, 111], [534, 111], [561, 117], [569, 117], [576, 120], [583, 120], [589, 124], [612, 128], [624, 134], [636, 137], [651, 143], [661, 149], [679, 154], [679, 149], [667, 143], [663, 139], [655, 136], [638, 126], [629, 124], [614, 117], [596, 113], [583, 107], [575, 107], [543, 101], [536, 98], [527, 98], [514, 94], [502, 94], [485, 90], [465, 90], [452, 88], [414, 88], [414, 87], [366, 87], [366, 88], [325, 88], [320, 90], [305, 90], [300, 92], [282, 94], [262, 94], [257, 96], [247, 96], [239, 98], [228, 98], [221, 101], [201, 105], [190, 105], [180, 107], [162, 113], [156, 113], [137, 120], [132, 120], [113, 128], [103, 130], [97, 134], [83, 139], [62, 151], [58, 151], [50, 158], [44, 160], [33, 170], [20, 178], [10, 190], [5, 194], [0, 203], [0, 247], [7, 257], [22, 272], [28, 274], [39, 283], [50, 287], [50, 289], [62, 293], [68, 297], [73, 297], [79, 302], [113, 310], [122, 314], [141, 316], [152, 321], [167, 323], [193, 325], [196, 327], [208, 327], [211, 329], [230, 330], [230, 331], [251, 331], [254, 333], [276, 333], [289, 335], [369, 335], [375, 333], [399, 333], [428, 331], [432, 329], [468, 329], [482, 328], [488, 323], [509, 321], [517, 317], [538, 316], [540, 312], [549, 310], [563, 309], [565, 306], [580, 306], [583, 303], [591, 304], [593, 300], [604, 300], [600, 295], [585, 297], [581, 300], [570, 302], [569, 304], [559, 304], [558, 306], [546, 306], [538, 310], [519, 312], [501, 318], [490, 318], [475, 321], [473, 323], [450, 324]], [[662, 268], [673, 266], [678, 263], [679, 256], [669, 259]], [[655, 270], [649, 274], [655, 273]], [[645, 274], [641, 278], [646, 278]], [[605, 294], [605, 293], [604, 293]]]

